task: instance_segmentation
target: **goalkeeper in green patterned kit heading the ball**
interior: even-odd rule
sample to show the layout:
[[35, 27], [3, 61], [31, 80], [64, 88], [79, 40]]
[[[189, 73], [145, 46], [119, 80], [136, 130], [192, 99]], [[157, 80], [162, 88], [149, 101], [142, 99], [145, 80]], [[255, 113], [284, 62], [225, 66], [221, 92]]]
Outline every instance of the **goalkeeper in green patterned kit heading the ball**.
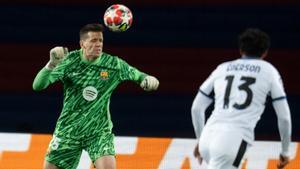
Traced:
[[102, 52], [103, 26], [87, 24], [80, 30], [81, 49], [50, 50], [50, 60], [33, 82], [36, 91], [61, 81], [64, 104], [49, 144], [44, 169], [76, 169], [86, 150], [97, 169], [116, 169], [109, 101], [114, 89], [131, 80], [144, 90], [159, 81], [124, 60]]

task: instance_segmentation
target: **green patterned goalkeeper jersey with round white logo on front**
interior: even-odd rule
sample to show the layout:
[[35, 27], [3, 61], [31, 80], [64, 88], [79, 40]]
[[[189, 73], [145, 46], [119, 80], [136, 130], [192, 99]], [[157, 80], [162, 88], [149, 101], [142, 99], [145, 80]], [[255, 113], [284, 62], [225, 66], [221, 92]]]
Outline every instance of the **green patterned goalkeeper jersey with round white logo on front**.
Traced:
[[43, 68], [33, 82], [35, 90], [51, 83], [64, 84], [64, 103], [54, 134], [81, 139], [99, 132], [111, 132], [110, 97], [125, 80], [140, 84], [146, 74], [124, 60], [106, 53], [93, 62], [83, 58], [82, 50], [71, 52], [54, 70]]

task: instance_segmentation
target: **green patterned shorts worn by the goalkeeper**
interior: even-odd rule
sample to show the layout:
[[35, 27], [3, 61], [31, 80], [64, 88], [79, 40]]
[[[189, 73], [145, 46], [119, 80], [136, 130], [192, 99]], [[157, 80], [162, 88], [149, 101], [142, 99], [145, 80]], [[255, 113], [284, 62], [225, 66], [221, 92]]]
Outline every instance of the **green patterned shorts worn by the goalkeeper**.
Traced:
[[114, 135], [99, 133], [87, 139], [59, 138], [53, 135], [46, 160], [61, 169], [76, 169], [82, 150], [86, 150], [93, 163], [102, 156], [115, 156]]

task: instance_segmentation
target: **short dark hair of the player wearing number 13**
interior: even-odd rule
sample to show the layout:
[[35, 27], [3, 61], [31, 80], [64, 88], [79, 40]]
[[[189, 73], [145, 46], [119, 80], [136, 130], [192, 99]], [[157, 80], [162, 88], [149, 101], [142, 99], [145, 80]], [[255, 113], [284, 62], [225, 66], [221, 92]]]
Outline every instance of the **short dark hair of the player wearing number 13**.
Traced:
[[270, 48], [270, 37], [257, 28], [248, 28], [239, 36], [239, 48], [246, 55], [261, 57]]

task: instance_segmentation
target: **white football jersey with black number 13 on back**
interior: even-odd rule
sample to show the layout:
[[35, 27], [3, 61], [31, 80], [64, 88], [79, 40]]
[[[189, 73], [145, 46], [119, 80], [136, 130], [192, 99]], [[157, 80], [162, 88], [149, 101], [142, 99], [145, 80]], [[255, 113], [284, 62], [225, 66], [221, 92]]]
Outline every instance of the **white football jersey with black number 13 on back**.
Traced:
[[277, 69], [270, 63], [242, 57], [220, 64], [200, 86], [209, 96], [214, 92], [214, 110], [206, 127], [240, 130], [248, 143], [254, 140], [254, 128], [270, 94], [272, 99], [286, 94]]

